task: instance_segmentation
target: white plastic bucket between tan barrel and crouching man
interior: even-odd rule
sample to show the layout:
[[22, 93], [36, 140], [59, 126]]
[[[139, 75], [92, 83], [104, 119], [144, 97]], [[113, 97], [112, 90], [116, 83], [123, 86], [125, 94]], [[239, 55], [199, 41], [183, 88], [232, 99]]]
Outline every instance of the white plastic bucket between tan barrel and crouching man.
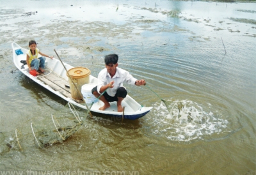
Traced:
[[92, 89], [97, 84], [84, 84], [81, 88], [81, 93], [86, 103], [97, 103], [99, 100], [92, 94]]

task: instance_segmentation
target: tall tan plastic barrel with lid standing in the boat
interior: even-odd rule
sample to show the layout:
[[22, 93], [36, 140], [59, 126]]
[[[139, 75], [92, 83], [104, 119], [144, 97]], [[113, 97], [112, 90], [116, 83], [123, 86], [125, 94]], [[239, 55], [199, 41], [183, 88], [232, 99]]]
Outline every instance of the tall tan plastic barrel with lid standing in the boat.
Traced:
[[[68, 74], [70, 75], [70, 77]], [[67, 77], [72, 98], [83, 99], [83, 96], [81, 95], [81, 93], [79, 93], [79, 91], [81, 92], [81, 87], [84, 84], [90, 83], [90, 74], [91, 71], [88, 68], [83, 67], [76, 67], [68, 70]], [[72, 80], [74, 84], [76, 84], [76, 86], [73, 84]], [[79, 91], [77, 91], [77, 89]]]

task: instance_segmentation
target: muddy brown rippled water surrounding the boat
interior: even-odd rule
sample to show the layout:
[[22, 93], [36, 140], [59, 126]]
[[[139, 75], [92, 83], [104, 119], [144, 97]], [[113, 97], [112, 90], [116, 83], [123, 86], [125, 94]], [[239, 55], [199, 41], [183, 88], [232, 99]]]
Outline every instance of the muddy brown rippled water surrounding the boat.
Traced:
[[[255, 174], [255, 3], [22, 2], [0, 5], [1, 174]], [[127, 86], [154, 107], [146, 116], [83, 116], [67, 141], [38, 148], [31, 123], [51, 130], [52, 113], [72, 115], [13, 65], [11, 43], [31, 39], [94, 76], [119, 54], [170, 112], [150, 89]]]

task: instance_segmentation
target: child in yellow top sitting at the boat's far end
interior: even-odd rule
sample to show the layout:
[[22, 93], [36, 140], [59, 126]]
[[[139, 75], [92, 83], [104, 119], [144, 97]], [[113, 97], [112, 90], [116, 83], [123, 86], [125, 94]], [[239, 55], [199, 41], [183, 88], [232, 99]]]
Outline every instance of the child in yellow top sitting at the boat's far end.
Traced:
[[[35, 40], [31, 40], [28, 43], [28, 47], [29, 50], [27, 52], [27, 65], [29, 68], [29, 72], [31, 71], [31, 66], [34, 67], [34, 69], [36, 70], [36, 74], [40, 74], [38, 72], [38, 70], [40, 70], [41, 72], [44, 72], [44, 66], [45, 66], [45, 57], [49, 57], [49, 58], [53, 58], [52, 56], [47, 56], [45, 54], [43, 54], [42, 52], [39, 51], [38, 48], [36, 48], [36, 42]], [[38, 54], [40, 54], [41, 56], [45, 56], [45, 57], [38, 57]]]

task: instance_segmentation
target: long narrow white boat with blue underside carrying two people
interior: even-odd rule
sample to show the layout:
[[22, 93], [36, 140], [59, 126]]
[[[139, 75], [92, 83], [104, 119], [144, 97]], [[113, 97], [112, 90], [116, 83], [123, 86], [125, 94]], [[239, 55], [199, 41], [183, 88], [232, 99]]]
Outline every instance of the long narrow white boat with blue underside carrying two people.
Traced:
[[[63, 63], [62, 65], [60, 60], [46, 57], [45, 68], [49, 70], [49, 72], [34, 77], [29, 73], [28, 65], [23, 65], [20, 63], [20, 61], [26, 60], [26, 52], [28, 52], [28, 49], [20, 47], [17, 43], [12, 43], [12, 49], [14, 65], [20, 70], [20, 72], [24, 73], [24, 75], [29, 77], [29, 79], [34, 80], [36, 83], [48, 89], [55, 95], [60, 96], [67, 102], [70, 102], [77, 107], [87, 109], [83, 103], [79, 102], [79, 100], [72, 98], [70, 89], [65, 86], [68, 84], [68, 77], [63, 65], [65, 65], [67, 70], [73, 68], [72, 66], [68, 65], [67, 63]], [[90, 84], [97, 84], [97, 82], [98, 79], [90, 75]], [[93, 103], [90, 111], [104, 114], [104, 116], [115, 116], [122, 118], [123, 112], [117, 112], [116, 102], [111, 102], [111, 107], [106, 110], [99, 110], [99, 108], [103, 105], [104, 103], [99, 100], [99, 102]], [[143, 107], [129, 95], [127, 95], [123, 100], [122, 106], [125, 107], [124, 118], [132, 120], [145, 116], [145, 114], [152, 109], [152, 107]]]

